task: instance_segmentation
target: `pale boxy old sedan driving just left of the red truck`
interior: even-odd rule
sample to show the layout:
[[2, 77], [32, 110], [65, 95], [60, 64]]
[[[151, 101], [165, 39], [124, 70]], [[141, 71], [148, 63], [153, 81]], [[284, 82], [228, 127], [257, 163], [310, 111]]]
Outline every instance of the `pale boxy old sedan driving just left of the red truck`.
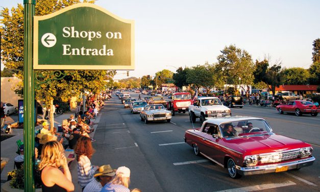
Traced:
[[140, 111], [141, 121], [148, 124], [151, 121], [171, 121], [171, 112], [166, 110], [162, 104], [146, 105], [145, 109]]

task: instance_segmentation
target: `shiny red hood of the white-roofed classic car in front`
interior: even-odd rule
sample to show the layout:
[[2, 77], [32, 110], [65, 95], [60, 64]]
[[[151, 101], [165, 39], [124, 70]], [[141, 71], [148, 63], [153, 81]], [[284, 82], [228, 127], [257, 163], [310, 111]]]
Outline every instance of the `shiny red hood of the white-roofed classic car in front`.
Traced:
[[244, 138], [230, 138], [230, 140], [226, 140], [229, 148], [246, 155], [310, 147], [308, 143], [305, 143], [301, 140], [277, 135], [274, 133], [261, 134], [257, 136], [251, 135]]

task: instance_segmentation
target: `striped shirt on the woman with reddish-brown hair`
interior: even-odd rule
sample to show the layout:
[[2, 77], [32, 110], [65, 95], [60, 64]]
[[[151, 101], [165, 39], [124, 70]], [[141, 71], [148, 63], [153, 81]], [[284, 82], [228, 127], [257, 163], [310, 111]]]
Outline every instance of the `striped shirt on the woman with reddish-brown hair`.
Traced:
[[90, 159], [81, 155], [78, 161], [78, 183], [83, 188], [94, 179], [96, 167], [92, 167]]

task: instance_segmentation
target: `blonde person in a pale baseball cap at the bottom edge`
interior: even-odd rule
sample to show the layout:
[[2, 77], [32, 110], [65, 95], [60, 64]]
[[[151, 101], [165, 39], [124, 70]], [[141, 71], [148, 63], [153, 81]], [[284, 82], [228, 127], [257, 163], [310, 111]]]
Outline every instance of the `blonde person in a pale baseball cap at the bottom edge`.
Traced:
[[115, 172], [115, 178], [107, 183], [101, 192], [121, 191], [130, 192], [130, 169], [126, 166], [120, 166]]

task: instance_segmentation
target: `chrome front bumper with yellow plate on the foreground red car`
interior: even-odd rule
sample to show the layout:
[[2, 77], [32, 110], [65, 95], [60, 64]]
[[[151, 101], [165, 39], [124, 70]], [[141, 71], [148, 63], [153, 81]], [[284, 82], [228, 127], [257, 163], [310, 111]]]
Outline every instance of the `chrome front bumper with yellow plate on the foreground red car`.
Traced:
[[251, 167], [241, 167], [236, 166], [237, 172], [240, 175], [256, 175], [256, 174], [265, 174], [265, 173], [274, 173], [277, 168], [287, 166], [287, 170], [300, 169], [301, 167], [310, 166], [313, 164], [315, 158], [309, 157], [306, 159], [301, 159], [297, 161], [291, 161], [286, 163], [277, 163], [277, 164], [268, 164], [261, 166], [251, 166]]

